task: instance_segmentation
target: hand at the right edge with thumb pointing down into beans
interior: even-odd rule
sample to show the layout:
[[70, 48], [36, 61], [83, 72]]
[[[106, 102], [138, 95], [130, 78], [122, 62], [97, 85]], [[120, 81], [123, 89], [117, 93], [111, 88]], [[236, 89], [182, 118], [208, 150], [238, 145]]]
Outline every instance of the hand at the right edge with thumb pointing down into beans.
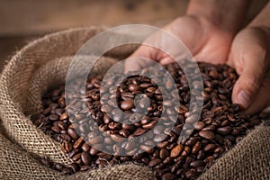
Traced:
[[247, 27], [232, 43], [229, 64], [239, 78], [233, 88], [233, 103], [255, 113], [270, 105], [270, 29]]

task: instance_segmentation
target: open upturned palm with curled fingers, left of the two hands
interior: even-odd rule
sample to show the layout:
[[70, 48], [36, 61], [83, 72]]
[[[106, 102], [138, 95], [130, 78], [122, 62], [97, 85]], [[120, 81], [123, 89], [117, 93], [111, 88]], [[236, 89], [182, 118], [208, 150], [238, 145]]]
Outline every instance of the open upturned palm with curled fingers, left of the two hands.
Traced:
[[[197, 61], [225, 63], [228, 59], [229, 48], [234, 34], [230, 31], [221, 30], [214, 23], [203, 17], [186, 15], [166, 25], [164, 30], [174, 35], [178, 40], [182, 40]], [[165, 52], [166, 49], [171, 51], [173, 45], [162, 34], [159, 32], [153, 34], [146, 40], [146, 43], [161, 46], [164, 49], [161, 50], [142, 45], [130, 58], [150, 58], [157, 60], [162, 65], [173, 62], [173, 58]], [[176, 49], [174, 57], [181, 57], [183, 53], [185, 53], [184, 50]], [[130, 59], [126, 63], [125, 71], [138, 70], [146, 66], [148, 64], [144, 61], [134, 62]]]

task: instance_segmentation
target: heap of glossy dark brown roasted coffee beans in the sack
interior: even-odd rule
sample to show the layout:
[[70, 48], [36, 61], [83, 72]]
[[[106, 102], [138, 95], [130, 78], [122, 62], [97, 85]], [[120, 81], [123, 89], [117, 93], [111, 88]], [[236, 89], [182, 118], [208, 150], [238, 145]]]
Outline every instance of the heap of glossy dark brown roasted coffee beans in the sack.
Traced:
[[[231, 103], [232, 87], [238, 79], [233, 68], [208, 63], [198, 66], [203, 87], [193, 70], [185, 71], [194, 78], [189, 85], [181, 67], [166, 66], [177, 88], [171, 94], [161, 94], [162, 89], [155, 83], [162, 81], [158, 74], [156, 79], [130, 76], [116, 88], [113, 84], [121, 75], [112, 74], [104, 88], [102, 76], [89, 77], [85, 87], [74, 85], [76, 94], [68, 94], [68, 106], [64, 85], [49, 91], [43, 96], [44, 110], [33, 122], [60, 142], [62, 151], [74, 163], [63, 166], [46, 157], [40, 159], [41, 163], [70, 175], [132, 161], [151, 167], [155, 179], [198, 177], [263, 118], [240, 114], [238, 104]], [[171, 82], [164, 85], [167, 89], [173, 87]], [[190, 98], [190, 88], [203, 88], [198, 95], [203, 100], [201, 115]], [[175, 105], [178, 95], [180, 104]], [[168, 101], [163, 101], [165, 96]], [[148, 112], [143, 115], [140, 110], [144, 108]], [[166, 116], [162, 116], [163, 112]], [[188, 138], [181, 139], [180, 133]]]

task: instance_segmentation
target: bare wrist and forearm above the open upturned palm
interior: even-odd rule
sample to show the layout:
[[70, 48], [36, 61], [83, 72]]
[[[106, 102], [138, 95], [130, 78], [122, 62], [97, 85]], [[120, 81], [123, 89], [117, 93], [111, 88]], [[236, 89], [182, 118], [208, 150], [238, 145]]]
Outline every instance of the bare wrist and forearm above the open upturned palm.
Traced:
[[249, 0], [191, 0], [188, 15], [196, 15], [220, 29], [236, 33], [244, 23]]

